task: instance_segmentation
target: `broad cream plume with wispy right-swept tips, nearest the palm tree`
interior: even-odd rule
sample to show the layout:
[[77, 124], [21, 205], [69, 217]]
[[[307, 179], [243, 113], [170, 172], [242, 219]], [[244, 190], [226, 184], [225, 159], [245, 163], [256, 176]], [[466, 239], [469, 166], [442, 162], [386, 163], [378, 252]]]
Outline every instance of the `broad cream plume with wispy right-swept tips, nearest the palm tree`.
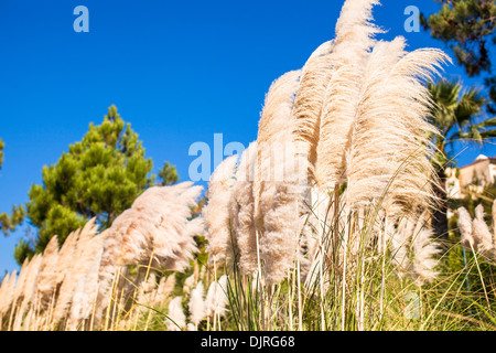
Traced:
[[402, 38], [374, 47], [346, 157], [347, 204], [367, 206], [386, 194], [389, 217], [430, 205], [428, 135], [435, 128], [424, 119], [430, 101], [421, 79], [446, 57], [436, 50], [406, 54], [403, 47]]

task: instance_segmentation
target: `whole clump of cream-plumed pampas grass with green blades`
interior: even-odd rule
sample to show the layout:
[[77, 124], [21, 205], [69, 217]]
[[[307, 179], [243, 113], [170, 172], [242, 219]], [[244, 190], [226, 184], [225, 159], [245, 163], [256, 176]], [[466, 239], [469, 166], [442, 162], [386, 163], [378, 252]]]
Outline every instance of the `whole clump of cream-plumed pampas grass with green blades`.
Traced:
[[428, 212], [423, 84], [450, 60], [375, 40], [377, 3], [345, 1], [335, 40], [271, 85], [202, 216], [200, 186], [155, 186], [107, 232], [54, 240], [2, 281], [1, 329], [493, 330], [484, 214], [441, 253]]

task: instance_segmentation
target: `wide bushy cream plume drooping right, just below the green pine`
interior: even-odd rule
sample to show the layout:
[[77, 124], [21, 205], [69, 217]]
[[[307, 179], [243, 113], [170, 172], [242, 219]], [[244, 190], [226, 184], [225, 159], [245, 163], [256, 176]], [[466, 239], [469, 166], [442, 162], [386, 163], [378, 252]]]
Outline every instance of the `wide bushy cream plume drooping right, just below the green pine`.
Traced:
[[[112, 280], [127, 265], [152, 264], [166, 270], [183, 271], [197, 253], [195, 235], [203, 234], [202, 218], [188, 221], [191, 207], [202, 186], [183, 182], [171, 186], [148, 189], [119, 215], [109, 228], [104, 244], [99, 269], [99, 293], [96, 322], [98, 323], [110, 300]], [[141, 280], [140, 278], [139, 280]], [[139, 284], [134, 284], [139, 286]], [[120, 289], [116, 289], [118, 292]]]

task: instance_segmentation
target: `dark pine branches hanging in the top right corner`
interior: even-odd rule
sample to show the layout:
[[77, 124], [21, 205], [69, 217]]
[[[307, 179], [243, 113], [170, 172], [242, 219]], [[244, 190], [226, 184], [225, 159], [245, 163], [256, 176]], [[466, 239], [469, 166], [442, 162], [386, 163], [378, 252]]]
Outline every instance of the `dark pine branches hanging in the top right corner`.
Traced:
[[[424, 29], [434, 39], [442, 40], [454, 52], [468, 76], [492, 73], [490, 45], [496, 44], [496, 3], [494, 0], [436, 0], [443, 3], [438, 13], [421, 17]], [[485, 78], [496, 113], [496, 76]]]

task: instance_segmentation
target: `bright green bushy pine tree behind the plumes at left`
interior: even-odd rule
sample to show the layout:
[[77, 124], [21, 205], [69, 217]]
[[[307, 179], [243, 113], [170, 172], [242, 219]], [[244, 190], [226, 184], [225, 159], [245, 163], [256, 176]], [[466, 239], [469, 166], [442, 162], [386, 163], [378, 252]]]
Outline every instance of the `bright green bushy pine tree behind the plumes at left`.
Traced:
[[80, 141], [43, 168], [43, 183], [31, 186], [26, 215], [37, 237], [31, 246], [24, 240], [18, 245], [17, 260], [42, 252], [54, 235], [62, 244], [93, 217], [101, 229], [109, 227], [153, 183], [151, 169], [138, 135], [111, 106], [101, 125], [90, 124]]

